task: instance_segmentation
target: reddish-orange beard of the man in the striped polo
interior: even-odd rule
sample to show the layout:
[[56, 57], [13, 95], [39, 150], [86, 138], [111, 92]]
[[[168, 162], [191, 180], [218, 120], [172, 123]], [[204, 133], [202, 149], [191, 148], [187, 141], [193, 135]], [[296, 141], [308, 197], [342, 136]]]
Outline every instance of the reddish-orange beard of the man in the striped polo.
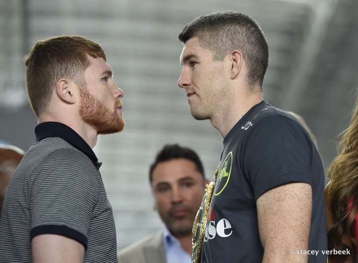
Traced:
[[80, 117], [85, 123], [96, 129], [97, 134], [111, 134], [124, 129], [125, 121], [122, 116], [118, 115], [116, 109], [122, 105], [120, 100], [111, 110], [89, 94], [85, 87], [80, 88], [80, 94]]

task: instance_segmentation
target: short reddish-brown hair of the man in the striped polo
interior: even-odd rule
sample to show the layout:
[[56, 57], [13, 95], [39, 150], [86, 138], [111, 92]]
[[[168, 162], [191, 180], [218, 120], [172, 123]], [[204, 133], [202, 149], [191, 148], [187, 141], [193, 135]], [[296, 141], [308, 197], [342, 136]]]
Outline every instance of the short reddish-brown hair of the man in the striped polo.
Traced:
[[83, 36], [55, 36], [38, 41], [23, 61], [26, 67], [27, 95], [36, 117], [48, 108], [54, 87], [61, 78], [80, 87], [90, 66], [87, 55], [106, 60], [99, 44]]

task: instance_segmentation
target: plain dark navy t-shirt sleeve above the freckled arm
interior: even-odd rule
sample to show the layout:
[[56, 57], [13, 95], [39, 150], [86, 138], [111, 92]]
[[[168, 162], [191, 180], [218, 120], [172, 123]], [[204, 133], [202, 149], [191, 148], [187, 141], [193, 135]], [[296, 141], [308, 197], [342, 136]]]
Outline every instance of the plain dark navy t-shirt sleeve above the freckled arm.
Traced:
[[252, 185], [255, 200], [285, 183], [312, 185], [314, 144], [297, 121], [275, 115], [261, 120], [253, 128], [241, 149], [241, 156], [244, 155], [244, 173]]

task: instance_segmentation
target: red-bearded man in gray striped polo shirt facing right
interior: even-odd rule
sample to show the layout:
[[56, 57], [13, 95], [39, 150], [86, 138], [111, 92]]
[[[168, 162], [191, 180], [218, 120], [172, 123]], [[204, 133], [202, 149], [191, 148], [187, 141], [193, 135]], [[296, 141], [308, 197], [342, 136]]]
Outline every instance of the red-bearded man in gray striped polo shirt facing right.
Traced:
[[102, 48], [81, 36], [38, 41], [24, 63], [39, 125], [5, 195], [0, 262], [117, 262], [113, 212], [92, 147], [98, 134], [124, 128], [123, 91]]

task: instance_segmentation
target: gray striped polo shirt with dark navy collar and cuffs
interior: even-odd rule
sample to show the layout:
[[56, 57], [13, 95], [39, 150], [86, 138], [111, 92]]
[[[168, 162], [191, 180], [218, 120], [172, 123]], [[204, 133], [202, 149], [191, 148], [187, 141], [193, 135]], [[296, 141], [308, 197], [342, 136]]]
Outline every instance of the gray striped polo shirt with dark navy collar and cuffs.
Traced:
[[116, 263], [113, 212], [86, 141], [55, 122], [35, 128], [36, 142], [11, 177], [0, 219], [0, 263], [32, 262], [31, 240], [70, 237], [85, 246], [85, 263]]

